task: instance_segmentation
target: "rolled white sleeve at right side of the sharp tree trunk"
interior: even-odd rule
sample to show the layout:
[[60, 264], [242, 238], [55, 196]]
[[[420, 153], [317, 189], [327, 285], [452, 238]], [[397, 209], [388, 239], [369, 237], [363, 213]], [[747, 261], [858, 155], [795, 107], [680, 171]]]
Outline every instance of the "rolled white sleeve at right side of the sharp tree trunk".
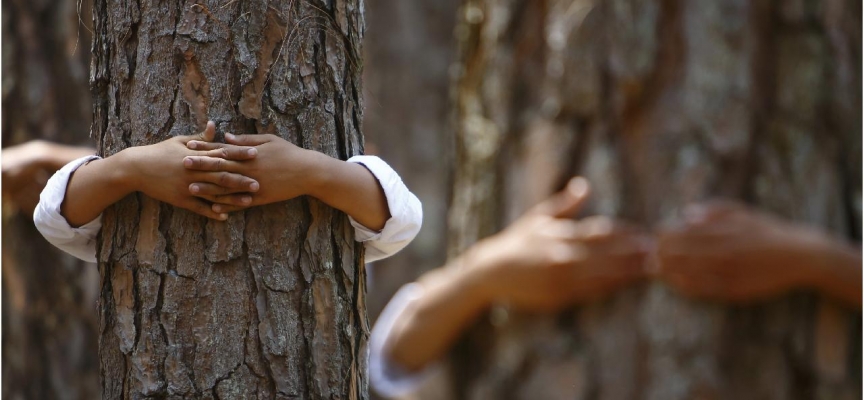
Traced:
[[387, 163], [375, 156], [354, 156], [348, 162], [362, 164], [375, 175], [390, 208], [390, 219], [380, 232], [373, 231], [354, 218], [354, 239], [366, 246], [366, 262], [387, 258], [402, 250], [414, 240], [423, 223], [420, 200], [402, 183], [402, 178]]

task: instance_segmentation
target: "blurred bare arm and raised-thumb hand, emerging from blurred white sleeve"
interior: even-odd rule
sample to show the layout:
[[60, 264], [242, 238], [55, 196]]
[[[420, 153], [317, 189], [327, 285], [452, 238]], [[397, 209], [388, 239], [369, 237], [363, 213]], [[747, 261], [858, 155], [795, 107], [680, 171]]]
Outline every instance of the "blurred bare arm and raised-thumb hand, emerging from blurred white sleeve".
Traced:
[[646, 249], [638, 234], [602, 217], [566, 218], [587, 192], [584, 180], [572, 180], [502, 233], [421, 277], [423, 294], [394, 324], [386, 355], [417, 371], [446, 354], [493, 303], [555, 312], [644, 277]]

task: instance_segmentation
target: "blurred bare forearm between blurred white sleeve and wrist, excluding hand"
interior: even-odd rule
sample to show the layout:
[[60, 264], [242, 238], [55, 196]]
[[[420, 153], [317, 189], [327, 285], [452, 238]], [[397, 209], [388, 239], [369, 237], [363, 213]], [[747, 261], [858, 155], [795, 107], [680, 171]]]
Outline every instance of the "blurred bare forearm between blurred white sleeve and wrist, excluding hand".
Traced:
[[489, 306], [479, 290], [478, 274], [471, 267], [450, 266], [421, 278], [424, 294], [393, 326], [384, 350], [389, 357], [409, 371], [442, 358]]

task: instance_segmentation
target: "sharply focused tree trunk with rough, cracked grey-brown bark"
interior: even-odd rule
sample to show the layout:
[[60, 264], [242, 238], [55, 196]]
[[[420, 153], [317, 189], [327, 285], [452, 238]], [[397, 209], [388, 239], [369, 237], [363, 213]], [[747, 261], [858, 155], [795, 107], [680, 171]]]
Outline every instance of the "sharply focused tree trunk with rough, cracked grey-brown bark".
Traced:
[[[103, 155], [200, 131], [362, 152], [362, 2], [97, 1]], [[141, 194], [99, 245], [102, 397], [367, 397], [362, 246], [311, 198], [207, 221]]]

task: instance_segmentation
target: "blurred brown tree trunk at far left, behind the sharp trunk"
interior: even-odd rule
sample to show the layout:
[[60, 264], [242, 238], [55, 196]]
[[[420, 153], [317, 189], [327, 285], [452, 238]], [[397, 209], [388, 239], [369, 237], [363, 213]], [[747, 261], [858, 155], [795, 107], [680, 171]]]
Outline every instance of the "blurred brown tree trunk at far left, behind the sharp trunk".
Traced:
[[[90, 20], [87, 4], [80, 17]], [[3, 2], [3, 146], [86, 140], [89, 42], [75, 1]], [[2, 397], [97, 397], [96, 267], [51, 246], [8, 201], [3, 234]]]

